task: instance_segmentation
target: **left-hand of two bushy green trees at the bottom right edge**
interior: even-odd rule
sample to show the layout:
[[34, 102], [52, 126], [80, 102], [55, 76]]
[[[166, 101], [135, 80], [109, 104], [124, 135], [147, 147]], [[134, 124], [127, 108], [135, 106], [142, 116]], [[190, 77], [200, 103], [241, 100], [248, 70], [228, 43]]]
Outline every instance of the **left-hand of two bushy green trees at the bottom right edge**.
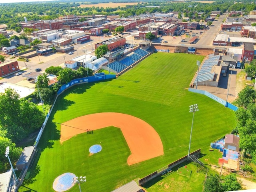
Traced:
[[222, 192], [222, 185], [217, 174], [210, 174], [204, 182], [203, 192]]

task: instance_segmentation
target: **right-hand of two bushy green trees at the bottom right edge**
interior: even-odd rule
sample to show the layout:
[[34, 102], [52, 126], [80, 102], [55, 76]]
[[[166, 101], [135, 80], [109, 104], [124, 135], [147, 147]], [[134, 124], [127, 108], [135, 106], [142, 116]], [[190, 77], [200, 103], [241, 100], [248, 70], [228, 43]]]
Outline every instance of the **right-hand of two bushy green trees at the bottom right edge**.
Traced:
[[223, 191], [237, 191], [241, 190], [241, 181], [236, 178], [235, 174], [229, 174], [225, 177], [222, 183]]

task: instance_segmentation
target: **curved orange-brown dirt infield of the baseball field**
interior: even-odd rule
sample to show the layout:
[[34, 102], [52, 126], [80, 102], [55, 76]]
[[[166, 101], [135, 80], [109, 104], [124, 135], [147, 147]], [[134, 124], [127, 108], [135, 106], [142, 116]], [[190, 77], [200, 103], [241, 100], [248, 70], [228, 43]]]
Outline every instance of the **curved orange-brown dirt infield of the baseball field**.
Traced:
[[74, 118], [61, 124], [60, 142], [86, 130], [114, 126], [121, 129], [130, 148], [128, 165], [142, 162], [164, 154], [160, 136], [150, 124], [122, 113], [96, 113]]

